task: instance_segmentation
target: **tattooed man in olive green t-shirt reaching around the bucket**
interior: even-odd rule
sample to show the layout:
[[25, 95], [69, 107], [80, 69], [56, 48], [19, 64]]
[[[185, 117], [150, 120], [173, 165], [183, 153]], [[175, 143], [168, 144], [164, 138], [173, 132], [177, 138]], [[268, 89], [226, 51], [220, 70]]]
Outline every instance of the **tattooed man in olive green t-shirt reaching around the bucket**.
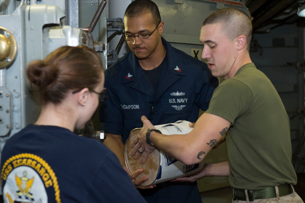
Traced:
[[293, 189], [297, 182], [291, 164], [289, 118], [271, 81], [249, 56], [252, 23], [235, 8], [219, 9], [203, 22], [202, 58], [217, 87], [209, 109], [188, 135], [163, 135], [142, 116], [143, 128], [131, 147], [142, 163], [155, 147], [187, 165], [199, 163], [227, 131], [229, 162], [206, 164], [202, 171], [177, 181], [204, 176], [229, 176], [233, 202], [303, 202]]

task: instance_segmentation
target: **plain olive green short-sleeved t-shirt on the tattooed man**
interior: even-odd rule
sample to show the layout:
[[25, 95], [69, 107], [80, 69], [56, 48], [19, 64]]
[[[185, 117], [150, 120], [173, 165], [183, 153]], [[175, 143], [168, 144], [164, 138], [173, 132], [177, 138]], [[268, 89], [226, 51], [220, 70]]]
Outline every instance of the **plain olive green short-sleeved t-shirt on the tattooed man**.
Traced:
[[215, 89], [206, 113], [231, 122], [227, 137], [231, 187], [259, 190], [296, 184], [288, 115], [271, 81], [253, 63]]

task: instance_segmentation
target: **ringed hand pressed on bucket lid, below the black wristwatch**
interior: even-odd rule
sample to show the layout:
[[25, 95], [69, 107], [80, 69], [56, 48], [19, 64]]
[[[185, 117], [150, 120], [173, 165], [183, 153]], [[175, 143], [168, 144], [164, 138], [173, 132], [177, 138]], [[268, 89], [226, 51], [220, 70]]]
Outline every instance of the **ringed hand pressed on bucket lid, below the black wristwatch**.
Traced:
[[[150, 121], [146, 118], [146, 116], [141, 117], [141, 121], [143, 123], [143, 127], [138, 134], [138, 136], [131, 142], [130, 148], [133, 148], [130, 155], [134, 156], [135, 159], [139, 158], [142, 154], [141, 163], [145, 163], [147, 156], [151, 153], [155, 147], [149, 146], [146, 142], [146, 131], [147, 129], [155, 129], [155, 127], [150, 123]], [[144, 147], [144, 148], [143, 148]], [[141, 148], [141, 149], [140, 149]], [[143, 153], [140, 152], [143, 151]]]

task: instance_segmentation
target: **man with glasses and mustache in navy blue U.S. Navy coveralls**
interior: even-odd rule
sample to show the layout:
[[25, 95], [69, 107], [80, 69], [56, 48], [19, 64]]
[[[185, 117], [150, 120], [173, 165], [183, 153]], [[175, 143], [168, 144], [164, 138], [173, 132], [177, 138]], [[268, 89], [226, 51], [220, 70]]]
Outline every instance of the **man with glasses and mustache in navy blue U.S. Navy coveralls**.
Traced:
[[[151, 4], [155, 10], [151, 10]], [[159, 16], [153, 16], [156, 13]], [[196, 122], [199, 108], [208, 109], [218, 86], [218, 79], [204, 62], [173, 48], [161, 37], [164, 22], [155, 3], [132, 2], [125, 12], [124, 26], [131, 52], [106, 69], [108, 99], [100, 108], [101, 126], [106, 133], [104, 144], [118, 156], [122, 166], [124, 143], [131, 130], [142, 127], [141, 116], [153, 125], [178, 120]], [[143, 187], [140, 184], [145, 180], [135, 180], [135, 176], [131, 179], [148, 202], [202, 202], [196, 182]]]

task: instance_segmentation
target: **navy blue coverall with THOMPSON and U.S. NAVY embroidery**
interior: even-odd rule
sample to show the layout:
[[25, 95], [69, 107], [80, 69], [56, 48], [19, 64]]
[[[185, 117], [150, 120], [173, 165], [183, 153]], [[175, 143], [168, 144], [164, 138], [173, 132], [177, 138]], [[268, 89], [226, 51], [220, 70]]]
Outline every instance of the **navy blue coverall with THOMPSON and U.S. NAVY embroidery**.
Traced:
[[[206, 63], [172, 47], [162, 38], [166, 49], [163, 69], [157, 91], [147, 79], [137, 57], [129, 52], [105, 71], [105, 87], [108, 99], [100, 108], [102, 126], [105, 133], [122, 135], [125, 143], [130, 131], [142, 127], [141, 116], [146, 116], [153, 125], [173, 123], [178, 120], [196, 122], [199, 108], [206, 110], [218, 79], [211, 75]], [[195, 183], [167, 182], [175, 186], [196, 186]], [[162, 184], [162, 183], [160, 183]], [[160, 185], [160, 184], [157, 184]], [[193, 189], [183, 187], [166, 187], [163, 194], [177, 197], [179, 202], [201, 202], [200, 195], [196, 200], [189, 195]], [[154, 193], [158, 188], [140, 190], [143, 193]], [[185, 194], [185, 195], [184, 195]], [[149, 202], [176, 202], [172, 197], [161, 199], [154, 194], [147, 194]], [[144, 194], [144, 197], [147, 196]], [[181, 197], [179, 197], [182, 195]], [[183, 197], [185, 196], [185, 197]], [[198, 197], [199, 196], [199, 200]], [[194, 200], [194, 201], [193, 201]]]

